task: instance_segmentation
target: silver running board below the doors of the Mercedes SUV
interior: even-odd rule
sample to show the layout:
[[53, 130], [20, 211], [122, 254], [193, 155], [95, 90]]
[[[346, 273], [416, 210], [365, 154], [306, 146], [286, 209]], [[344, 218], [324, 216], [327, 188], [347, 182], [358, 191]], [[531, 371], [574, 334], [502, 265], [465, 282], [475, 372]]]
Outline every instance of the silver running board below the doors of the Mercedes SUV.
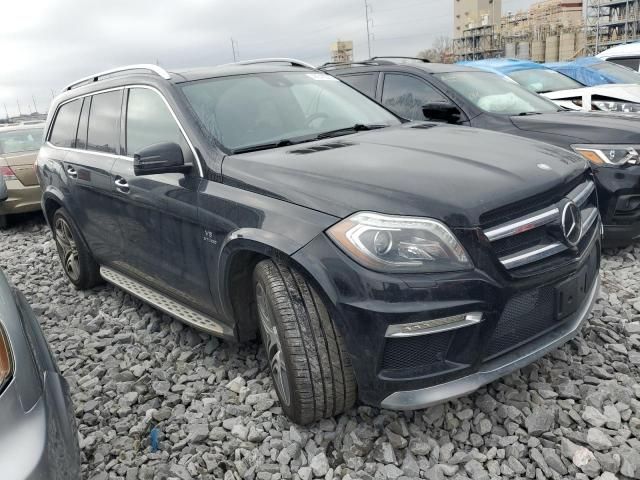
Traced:
[[120, 272], [108, 267], [100, 267], [100, 275], [102, 275], [102, 278], [107, 282], [120, 287], [127, 293], [130, 293], [134, 297], [139, 298], [154, 308], [157, 308], [167, 315], [170, 315], [199, 330], [218, 337], [233, 337], [233, 332], [217, 320], [208, 317], [191, 307], [187, 307], [165, 294], [160, 293], [137, 280], [133, 280]]

